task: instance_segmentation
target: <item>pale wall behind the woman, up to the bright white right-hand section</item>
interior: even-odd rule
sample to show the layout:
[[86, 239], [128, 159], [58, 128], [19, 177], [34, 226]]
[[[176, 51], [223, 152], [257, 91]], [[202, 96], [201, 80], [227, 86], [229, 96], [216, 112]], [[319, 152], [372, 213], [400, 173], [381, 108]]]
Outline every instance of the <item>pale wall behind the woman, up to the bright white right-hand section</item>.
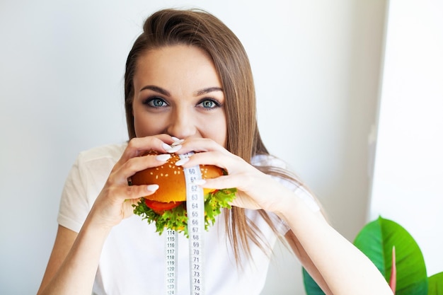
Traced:
[[[157, 8], [199, 6], [243, 41], [260, 129], [353, 239], [366, 221], [384, 0], [0, 2], [0, 294], [33, 294], [79, 151], [126, 139], [125, 57]], [[186, 5], [188, 6], [188, 5]], [[304, 294], [277, 250], [263, 295]]]

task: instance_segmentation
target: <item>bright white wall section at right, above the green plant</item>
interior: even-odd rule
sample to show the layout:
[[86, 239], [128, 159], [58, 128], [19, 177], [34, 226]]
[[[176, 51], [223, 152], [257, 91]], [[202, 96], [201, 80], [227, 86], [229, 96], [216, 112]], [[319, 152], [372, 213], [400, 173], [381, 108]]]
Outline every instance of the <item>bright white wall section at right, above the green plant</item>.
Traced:
[[443, 1], [391, 0], [370, 217], [401, 224], [443, 272]]

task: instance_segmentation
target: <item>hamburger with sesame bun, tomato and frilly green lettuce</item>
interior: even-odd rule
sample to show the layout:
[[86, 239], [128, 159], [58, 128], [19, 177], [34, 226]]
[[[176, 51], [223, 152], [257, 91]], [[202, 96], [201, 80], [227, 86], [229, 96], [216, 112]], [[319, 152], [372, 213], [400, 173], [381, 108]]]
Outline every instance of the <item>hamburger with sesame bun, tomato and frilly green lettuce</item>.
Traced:
[[[149, 151], [148, 154], [159, 154]], [[142, 197], [134, 204], [134, 214], [142, 216], [149, 224], [155, 223], [156, 232], [161, 234], [164, 229], [173, 229], [184, 232], [188, 236], [188, 216], [186, 214], [186, 181], [181, 166], [176, 166], [180, 160], [178, 154], [171, 154], [171, 158], [161, 166], [147, 168], [132, 175], [132, 185], [159, 185], [159, 189], [152, 195]], [[200, 165], [202, 179], [216, 178], [226, 175], [222, 168], [212, 165]], [[231, 209], [229, 204], [236, 196], [236, 189], [224, 190], [203, 189], [205, 198], [205, 230], [215, 222], [215, 216], [222, 212], [222, 208]]]

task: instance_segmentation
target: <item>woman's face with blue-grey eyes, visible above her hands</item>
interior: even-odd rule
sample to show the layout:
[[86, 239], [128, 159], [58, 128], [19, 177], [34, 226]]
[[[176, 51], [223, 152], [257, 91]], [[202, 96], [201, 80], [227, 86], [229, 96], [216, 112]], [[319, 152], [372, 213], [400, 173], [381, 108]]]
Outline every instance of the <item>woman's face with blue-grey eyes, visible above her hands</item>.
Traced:
[[166, 133], [226, 146], [224, 102], [214, 64], [199, 48], [173, 45], [139, 57], [132, 103], [137, 137]]

